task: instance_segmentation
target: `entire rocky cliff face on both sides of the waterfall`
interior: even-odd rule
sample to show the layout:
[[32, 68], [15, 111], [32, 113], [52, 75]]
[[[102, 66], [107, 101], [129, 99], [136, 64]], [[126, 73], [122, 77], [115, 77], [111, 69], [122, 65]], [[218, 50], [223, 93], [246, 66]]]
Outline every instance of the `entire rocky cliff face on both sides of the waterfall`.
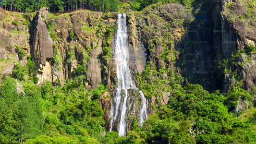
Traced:
[[[206, 3], [194, 15], [179, 4], [127, 13], [132, 73], [143, 72], [146, 61], [150, 61], [157, 69], [164, 66], [168, 71], [176, 71], [176, 67], [180, 68], [176, 72], [183, 74], [185, 83], [202, 84], [210, 91], [226, 91], [234, 84], [232, 72], [236, 72], [238, 80], [244, 80], [244, 88], [252, 90], [256, 78], [255, 54], [241, 54], [233, 60], [235, 64], [229, 59], [237, 50], [255, 47], [255, 26], [232, 22], [230, 12], [239, 16], [246, 10], [237, 2], [227, 8], [227, 3]], [[39, 83], [60, 80], [64, 84], [65, 79], [73, 79], [77, 65], [85, 64], [87, 89], [97, 88], [101, 83], [114, 85], [117, 13], [77, 11], [49, 16], [47, 9], [40, 9], [31, 22], [30, 35], [28, 26], [22, 24], [27, 20], [19, 17], [14, 12], [8, 14], [1, 10], [1, 19], [4, 19], [1, 21], [1, 59], [7, 59], [8, 53], [12, 53], [18, 60], [15, 49], [21, 46], [37, 65]], [[161, 56], [166, 48], [171, 51], [171, 59]], [[179, 60], [174, 60], [175, 56]], [[222, 60], [230, 61], [224, 69], [231, 72], [220, 72]], [[12, 69], [6, 71], [12, 73]]]

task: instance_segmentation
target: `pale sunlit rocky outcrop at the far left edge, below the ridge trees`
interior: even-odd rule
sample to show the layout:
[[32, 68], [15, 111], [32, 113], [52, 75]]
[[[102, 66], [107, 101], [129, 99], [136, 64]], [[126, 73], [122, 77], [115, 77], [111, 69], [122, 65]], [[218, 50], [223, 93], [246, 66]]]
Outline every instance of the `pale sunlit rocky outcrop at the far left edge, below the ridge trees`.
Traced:
[[[28, 24], [25, 17], [18, 12], [6, 12], [0, 8], [0, 75], [12, 74], [14, 65], [20, 60], [26, 63], [29, 55]], [[19, 57], [17, 48], [24, 52]]]

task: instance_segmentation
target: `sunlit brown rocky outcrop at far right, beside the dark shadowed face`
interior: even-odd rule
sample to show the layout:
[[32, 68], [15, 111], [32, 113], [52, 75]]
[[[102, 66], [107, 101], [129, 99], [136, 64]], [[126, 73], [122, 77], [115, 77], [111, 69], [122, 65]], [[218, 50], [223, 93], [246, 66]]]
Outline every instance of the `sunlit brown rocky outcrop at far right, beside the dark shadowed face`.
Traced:
[[[256, 88], [256, 67], [255, 67], [255, 48], [256, 48], [256, 25], [247, 13], [247, 1], [233, 1], [232, 6], [228, 0], [222, 3], [223, 14], [221, 15], [221, 31], [222, 31], [222, 51], [225, 59], [236, 55], [238, 50], [243, 54], [233, 60], [233, 64], [227, 67], [232, 72], [236, 72], [239, 79], [234, 80], [231, 73], [226, 73], [224, 77], [224, 89], [227, 90], [233, 86], [234, 81], [244, 81], [243, 88], [253, 91]], [[242, 19], [246, 17], [246, 22]], [[239, 17], [239, 19], [234, 18]], [[254, 48], [252, 52], [248, 52], [247, 48]], [[247, 51], [247, 52], [244, 52]]]

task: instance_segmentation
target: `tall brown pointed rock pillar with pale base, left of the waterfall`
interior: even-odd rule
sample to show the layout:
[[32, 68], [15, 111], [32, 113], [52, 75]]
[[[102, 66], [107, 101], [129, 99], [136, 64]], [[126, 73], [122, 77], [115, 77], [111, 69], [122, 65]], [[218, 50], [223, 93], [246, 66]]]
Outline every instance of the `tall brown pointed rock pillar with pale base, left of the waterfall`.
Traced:
[[53, 47], [45, 21], [48, 16], [48, 8], [41, 8], [34, 17], [30, 28], [31, 55], [38, 68], [39, 84], [47, 80], [52, 81], [49, 61], [53, 56]]

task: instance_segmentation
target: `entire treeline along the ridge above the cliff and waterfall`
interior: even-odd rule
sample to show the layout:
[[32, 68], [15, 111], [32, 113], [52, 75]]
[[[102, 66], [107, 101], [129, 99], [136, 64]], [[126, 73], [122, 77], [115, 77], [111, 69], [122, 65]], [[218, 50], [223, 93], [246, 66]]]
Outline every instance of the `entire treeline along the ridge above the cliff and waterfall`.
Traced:
[[0, 7], [12, 12], [36, 12], [41, 7], [48, 7], [50, 12], [72, 12], [77, 10], [90, 10], [98, 12], [118, 12], [124, 2], [135, 11], [146, 6], [162, 3], [182, 3], [187, 5], [194, 0], [0, 0]]

